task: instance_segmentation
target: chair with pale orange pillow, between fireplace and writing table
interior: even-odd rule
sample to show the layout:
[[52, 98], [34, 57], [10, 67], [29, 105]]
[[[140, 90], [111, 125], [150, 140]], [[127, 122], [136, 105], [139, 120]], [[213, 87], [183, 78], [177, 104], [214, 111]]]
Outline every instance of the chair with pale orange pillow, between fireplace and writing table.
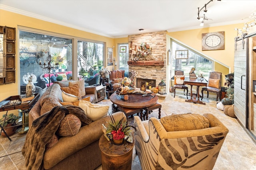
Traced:
[[182, 70], [175, 70], [174, 73], [174, 98], [175, 98], [175, 90], [176, 88], [178, 89], [184, 89], [184, 95], [185, 95], [185, 90], [187, 90], [187, 99], [188, 99], [188, 87], [184, 85], [184, 71]]

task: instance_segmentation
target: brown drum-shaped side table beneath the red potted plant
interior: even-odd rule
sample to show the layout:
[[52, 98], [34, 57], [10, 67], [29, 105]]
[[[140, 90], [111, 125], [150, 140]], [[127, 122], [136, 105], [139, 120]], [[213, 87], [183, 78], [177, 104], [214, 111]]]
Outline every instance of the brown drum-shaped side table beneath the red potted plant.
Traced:
[[126, 151], [124, 151], [124, 145], [114, 144], [112, 150], [109, 150], [110, 142], [102, 135], [99, 141], [102, 170], [131, 170], [134, 142], [135, 140], [133, 140], [133, 143], [128, 143]]

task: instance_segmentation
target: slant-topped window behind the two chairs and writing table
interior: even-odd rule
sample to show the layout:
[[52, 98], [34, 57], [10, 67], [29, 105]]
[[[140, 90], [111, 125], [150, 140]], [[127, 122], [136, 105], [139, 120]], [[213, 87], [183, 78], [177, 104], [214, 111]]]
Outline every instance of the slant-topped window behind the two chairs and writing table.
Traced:
[[203, 74], [208, 79], [209, 72], [212, 71], [212, 61], [196, 53], [192, 49], [172, 41], [172, 75], [174, 70], [183, 70], [185, 76], [189, 76], [191, 68], [196, 68], [196, 76]]

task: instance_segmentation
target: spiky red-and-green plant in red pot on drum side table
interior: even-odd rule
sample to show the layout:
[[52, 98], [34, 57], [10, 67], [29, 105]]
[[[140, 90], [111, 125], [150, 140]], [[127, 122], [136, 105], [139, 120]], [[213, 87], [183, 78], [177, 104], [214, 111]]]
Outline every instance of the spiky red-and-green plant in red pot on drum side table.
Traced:
[[111, 136], [110, 140], [112, 140], [115, 145], [122, 145], [126, 136], [132, 139], [131, 127], [132, 126], [127, 125], [127, 121], [124, 121], [124, 118], [119, 121], [115, 121], [114, 118], [111, 117], [111, 122], [108, 122], [106, 134]]

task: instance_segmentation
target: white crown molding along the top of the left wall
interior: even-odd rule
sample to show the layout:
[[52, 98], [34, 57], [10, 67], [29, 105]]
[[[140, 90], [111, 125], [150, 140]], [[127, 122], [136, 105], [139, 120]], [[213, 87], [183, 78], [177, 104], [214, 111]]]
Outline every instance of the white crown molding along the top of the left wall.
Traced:
[[32, 18], [36, 18], [36, 19], [39, 19], [39, 20], [43, 20], [43, 21], [48, 21], [48, 22], [56, 23], [56, 24], [58, 24], [58, 25], [63, 25], [63, 26], [66, 26], [66, 27], [78, 29], [78, 30], [81, 30], [81, 31], [86, 31], [86, 32], [93, 33], [93, 34], [97, 34], [97, 35], [101, 35], [101, 36], [104, 36], [104, 37], [114, 38], [114, 37], [109, 36], [109, 35], [105, 35], [105, 34], [102, 34], [102, 33], [98, 33], [98, 32], [96, 32], [96, 31], [92, 31], [92, 30], [90, 30], [90, 29], [85, 29], [85, 28], [83, 28], [83, 27], [78, 27], [78, 26], [72, 25], [72, 24], [70, 24], [70, 23], [66, 23], [66, 22], [54, 20], [54, 19], [52, 19], [52, 18], [40, 16], [40, 15], [31, 13], [31, 12], [27, 12], [27, 11], [24, 11], [24, 10], [19, 10], [19, 9], [17, 9], [17, 8], [12, 8], [12, 7], [10, 7], [10, 6], [6, 6], [6, 5], [3, 5], [3, 4], [0, 4], [0, 10], [6, 10], [6, 11], [9, 11], [9, 12], [14, 12], [14, 13], [16, 13], [16, 14], [21, 14], [21, 15], [28, 16], [28, 17], [32, 17]]

